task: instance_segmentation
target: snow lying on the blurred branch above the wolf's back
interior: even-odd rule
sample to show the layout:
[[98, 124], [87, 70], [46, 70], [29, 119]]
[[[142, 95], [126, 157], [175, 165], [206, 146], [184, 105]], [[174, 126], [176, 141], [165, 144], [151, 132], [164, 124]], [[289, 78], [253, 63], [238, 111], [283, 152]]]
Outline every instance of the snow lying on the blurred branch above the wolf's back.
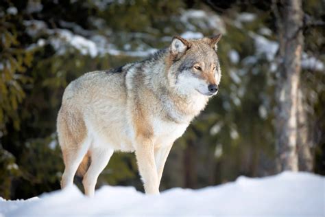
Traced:
[[[136, 47], [134, 51], [123, 51], [115, 48], [115, 45], [112, 43], [108, 43], [106, 36], [94, 34], [91, 31], [84, 30], [82, 27], [80, 27], [80, 25], [66, 21], [60, 21], [60, 25], [62, 25], [62, 27], [69, 27], [73, 30], [73, 32], [67, 29], [49, 29], [44, 21], [38, 20], [24, 21], [24, 25], [27, 28], [27, 34], [34, 38], [44, 33], [49, 35], [47, 40], [42, 38], [41, 41], [29, 45], [28, 49], [43, 47], [48, 42], [50, 45], [52, 45], [53, 49], [56, 50], [56, 54], [58, 55], [66, 54], [69, 47], [77, 49], [77, 51], [79, 51], [82, 55], [89, 55], [93, 58], [98, 55], [103, 56], [105, 54], [110, 54], [112, 56], [123, 55], [132, 57], [147, 57], [157, 51], [157, 49], [148, 46]], [[190, 32], [188, 32], [188, 34], [189, 33]], [[141, 33], [134, 33], [134, 36], [148, 37], [147, 35]]]

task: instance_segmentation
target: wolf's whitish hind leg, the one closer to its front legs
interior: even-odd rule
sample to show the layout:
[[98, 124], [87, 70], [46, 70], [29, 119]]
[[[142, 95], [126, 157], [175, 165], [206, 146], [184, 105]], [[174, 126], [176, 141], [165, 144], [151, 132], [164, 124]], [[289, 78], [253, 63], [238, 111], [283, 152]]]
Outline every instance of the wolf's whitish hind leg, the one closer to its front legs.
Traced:
[[99, 174], [105, 169], [110, 157], [114, 152], [113, 149], [93, 148], [91, 152], [91, 165], [88, 168], [82, 184], [84, 185], [84, 194], [87, 196], [94, 196], [95, 186]]

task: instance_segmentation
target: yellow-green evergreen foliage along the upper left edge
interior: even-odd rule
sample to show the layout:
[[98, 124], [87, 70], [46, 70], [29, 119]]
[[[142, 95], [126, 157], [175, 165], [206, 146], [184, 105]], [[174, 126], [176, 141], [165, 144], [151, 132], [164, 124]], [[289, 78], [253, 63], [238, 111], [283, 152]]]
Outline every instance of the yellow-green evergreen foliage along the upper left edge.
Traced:
[[[1, 10], [3, 8], [1, 7]], [[3, 14], [0, 17], [0, 133], [5, 133], [5, 124], [12, 122], [19, 129], [17, 109], [25, 98], [22, 84], [31, 82], [24, 75], [32, 64], [32, 52], [23, 48], [18, 41], [20, 32], [16, 30], [15, 21], [21, 19], [20, 14]]]

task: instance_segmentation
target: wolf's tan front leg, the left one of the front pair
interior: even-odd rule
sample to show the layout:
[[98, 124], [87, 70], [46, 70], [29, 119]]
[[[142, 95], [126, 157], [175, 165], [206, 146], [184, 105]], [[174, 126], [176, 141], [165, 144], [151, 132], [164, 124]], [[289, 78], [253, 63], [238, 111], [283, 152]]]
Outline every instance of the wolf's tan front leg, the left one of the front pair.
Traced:
[[139, 139], [136, 160], [145, 186], [146, 194], [159, 194], [159, 180], [154, 159], [154, 143], [151, 139]]

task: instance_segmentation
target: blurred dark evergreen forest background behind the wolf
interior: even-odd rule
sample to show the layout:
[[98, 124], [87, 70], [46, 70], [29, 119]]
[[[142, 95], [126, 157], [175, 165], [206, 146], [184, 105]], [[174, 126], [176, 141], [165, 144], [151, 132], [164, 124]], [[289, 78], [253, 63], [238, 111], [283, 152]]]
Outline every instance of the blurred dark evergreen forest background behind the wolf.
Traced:
[[[294, 7], [300, 16], [287, 16]], [[1, 0], [0, 196], [60, 189], [56, 116], [69, 82], [147, 58], [175, 35], [223, 34], [222, 79], [217, 96], [174, 144], [160, 190], [282, 170], [324, 175], [324, 23], [321, 0]], [[290, 46], [301, 52], [292, 56]], [[288, 69], [290, 56], [297, 70]], [[289, 118], [295, 122], [288, 131]], [[113, 155], [97, 187], [106, 184], [142, 190], [133, 154]]]

